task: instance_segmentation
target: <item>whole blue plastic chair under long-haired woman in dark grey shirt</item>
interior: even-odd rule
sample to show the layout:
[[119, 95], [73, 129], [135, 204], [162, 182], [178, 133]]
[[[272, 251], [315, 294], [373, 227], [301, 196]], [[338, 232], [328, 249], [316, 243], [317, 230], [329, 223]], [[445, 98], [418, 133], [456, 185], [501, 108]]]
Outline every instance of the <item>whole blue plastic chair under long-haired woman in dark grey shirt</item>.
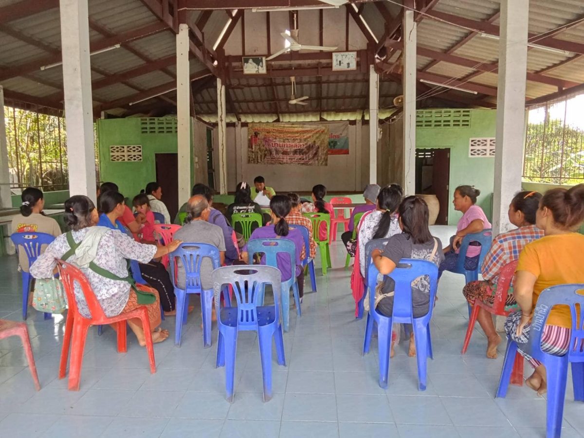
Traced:
[[[390, 346], [391, 325], [394, 322], [400, 324], [412, 324], [413, 336], [416, 342], [416, 360], [418, 361], [418, 390], [426, 390], [426, 360], [432, 357], [432, 339], [430, 339], [430, 319], [436, 298], [438, 267], [426, 260], [401, 259], [398, 267], [389, 275], [395, 281], [394, 308], [392, 317], [384, 317], [374, 308], [375, 287], [379, 271], [371, 263], [367, 278], [369, 280], [370, 309], [367, 314], [365, 328], [365, 340], [363, 342], [363, 354], [369, 353], [371, 333], [374, 324], [377, 324], [378, 350], [379, 350], [379, 385], [387, 388], [387, 376], [390, 370]], [[430, 305], [426, 315], [413, 318], [412, 315], [412, 281], [418, 277], [427, 275], [430, 277]]]

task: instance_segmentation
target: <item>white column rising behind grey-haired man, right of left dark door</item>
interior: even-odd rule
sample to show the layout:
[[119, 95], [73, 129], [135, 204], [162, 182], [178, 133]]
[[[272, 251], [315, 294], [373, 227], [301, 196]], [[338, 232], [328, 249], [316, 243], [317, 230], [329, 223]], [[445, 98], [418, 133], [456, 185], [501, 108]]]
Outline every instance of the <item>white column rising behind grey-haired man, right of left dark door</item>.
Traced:
[[189, 25], [179, 25], [176, 34], [176, 130], [178, 153], [179, 200], [185, 202], [190, 197], [190, 68], [189, 68]]

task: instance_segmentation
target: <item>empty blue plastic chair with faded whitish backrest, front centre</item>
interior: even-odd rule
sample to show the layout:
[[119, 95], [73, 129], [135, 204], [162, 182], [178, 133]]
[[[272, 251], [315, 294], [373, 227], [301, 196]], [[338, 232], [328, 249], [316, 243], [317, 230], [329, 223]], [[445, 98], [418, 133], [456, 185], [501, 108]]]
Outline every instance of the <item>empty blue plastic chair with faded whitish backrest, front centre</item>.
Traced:
[[[272, 338], [276, 343], [278, 363], [286, 365], [284, 338], [280, 318], [280, 297], [274, 293], [273, 305], [261, 305], [266, 284], [272, 290], [281, 289], [280, 270], [272, 266], [225, 266], [213, 271], [215, 311], [217, 312], [217, 367], [225, 366], [225, 392], [233, 402], [237, 332], [258, 332], [259, 352], [262, 358], [263, 401], [272, 398]], [[237, 307], [220, 306], [220, 293], [229, 285], [237, 300]]]

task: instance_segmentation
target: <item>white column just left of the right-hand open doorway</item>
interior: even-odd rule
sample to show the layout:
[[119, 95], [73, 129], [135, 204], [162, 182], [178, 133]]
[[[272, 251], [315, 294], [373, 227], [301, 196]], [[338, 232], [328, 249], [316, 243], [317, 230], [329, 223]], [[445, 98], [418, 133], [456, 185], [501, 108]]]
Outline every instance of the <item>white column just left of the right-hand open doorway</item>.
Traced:
[[413, 11], [404, 10], [402, 22], [404, 29], [404, 71], [402, 85], [404, 92], [404, 193], [406, 196], [416, 193], [416, 23]]

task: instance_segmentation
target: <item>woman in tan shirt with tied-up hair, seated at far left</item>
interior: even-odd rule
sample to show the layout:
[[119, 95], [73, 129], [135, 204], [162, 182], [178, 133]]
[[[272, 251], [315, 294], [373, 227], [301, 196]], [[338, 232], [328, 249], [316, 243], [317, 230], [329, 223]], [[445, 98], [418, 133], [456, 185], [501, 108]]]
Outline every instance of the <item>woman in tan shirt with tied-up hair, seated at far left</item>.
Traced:
[[[43, 192], [35, 187], [27, 187], [20, 195], [20, 214], [12, 219], [11, 231], [15, 232], [44, 232], [57, 237], [61, 234], [61, 228], [52, 217], [47, 217], [43, 213], [44, 199]], [[41, 251], [44, 251], [43, 245]], [[18, 252], [18, 262], [20, 269], [29, 272], [29, 258], [25, 251]], [[32, 294], [30, 294], [32, 297]]]

